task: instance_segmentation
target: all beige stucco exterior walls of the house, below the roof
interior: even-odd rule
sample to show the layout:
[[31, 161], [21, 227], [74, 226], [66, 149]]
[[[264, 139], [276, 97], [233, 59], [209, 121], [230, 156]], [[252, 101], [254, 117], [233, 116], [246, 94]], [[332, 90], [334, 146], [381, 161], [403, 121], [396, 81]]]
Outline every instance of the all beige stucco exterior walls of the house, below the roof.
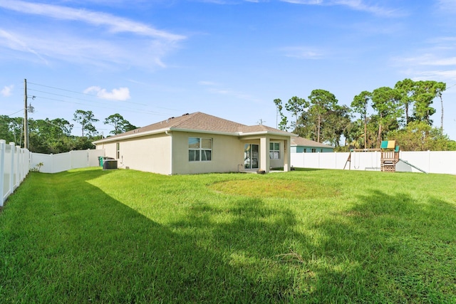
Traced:
[[[210, 161], [189, 160], [189, 137], [212, 139]], [[269, 159], [269, 142], [279, 142], [280, 159]], [[244, 172], [244, 145], [259, 145], [259, 168], [269, 172], [270, 167], [290, 167], [289, 137], [250, 135], [222, 135], [210, 132], [174, 130], [155, 135], [119, 138], [100, 143], [106, 157], [118, 159], [120, 169], [138, 169], [159, 174], [199, 174], [209, 172]], [[119, 145], [119, 146], [118, 146]], [[119, 147], [119, 151], [117, 151]]]

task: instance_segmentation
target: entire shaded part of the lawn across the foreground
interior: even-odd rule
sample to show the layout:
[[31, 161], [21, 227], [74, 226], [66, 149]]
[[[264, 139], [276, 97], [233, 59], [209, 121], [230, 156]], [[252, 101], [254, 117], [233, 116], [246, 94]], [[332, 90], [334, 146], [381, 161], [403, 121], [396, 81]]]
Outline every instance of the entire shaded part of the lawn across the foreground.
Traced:
[[[110, 172], [65, 172], [57, 184], [33, 174], [38, 180], [11, 196], [0, 218], [1, 299], [455, 300], [455, 206], [441, 199], [375, 191], [351, 209], [303, 222], [286, 204], [237, 197], [217, 206], [190, 204], [185, 216], [164, 226], [85, 182], [103, 174]], [[46, 199], [30, 199], [31, 182], [46, 184]]]

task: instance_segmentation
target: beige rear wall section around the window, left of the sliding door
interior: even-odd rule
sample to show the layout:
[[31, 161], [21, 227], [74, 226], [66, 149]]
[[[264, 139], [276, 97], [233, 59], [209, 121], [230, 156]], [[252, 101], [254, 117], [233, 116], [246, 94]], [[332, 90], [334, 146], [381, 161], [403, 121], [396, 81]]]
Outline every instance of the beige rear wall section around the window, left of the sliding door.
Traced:
[[[239, 137], [198, 132], [171, 132], [172, 174], [238, 172], [244, 164], [244, 144]], [[212, 138], [212, 160], [189, 162], [188, 137]]]

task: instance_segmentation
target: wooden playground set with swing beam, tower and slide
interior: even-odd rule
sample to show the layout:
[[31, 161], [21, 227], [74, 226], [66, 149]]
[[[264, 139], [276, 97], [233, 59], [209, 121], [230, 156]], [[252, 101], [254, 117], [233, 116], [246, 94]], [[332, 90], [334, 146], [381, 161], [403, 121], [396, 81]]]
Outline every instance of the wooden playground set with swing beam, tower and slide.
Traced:
[[352, 152], [380, 152], [380, 170], [382, 172], [395, 172], [396, 171], [396, 164], [401, 161], [405, 162], [405, 164], [418, 169], [423, 173], [427, 173], [422, 169], [415, 167], [413, 164], [405, 161], [404, 159], [399, 158], [399, 146], [396, 145], [395, 140], [383, 140], [380, 145], [380, 149], [351, 149], [350, 154], [348, 154], [348, 159], [343, 166], [343, 169], [346, 168], [348, 164], [348, 169], [351, 169], [351, 153]]

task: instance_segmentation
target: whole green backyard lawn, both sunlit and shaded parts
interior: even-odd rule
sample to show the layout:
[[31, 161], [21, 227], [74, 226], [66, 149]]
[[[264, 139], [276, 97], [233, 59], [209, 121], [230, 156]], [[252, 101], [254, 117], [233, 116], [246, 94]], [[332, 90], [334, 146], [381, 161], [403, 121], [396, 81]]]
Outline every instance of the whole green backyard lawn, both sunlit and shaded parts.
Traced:
[[456, 303], [456, 177], [32, 172], [4, 303]]

